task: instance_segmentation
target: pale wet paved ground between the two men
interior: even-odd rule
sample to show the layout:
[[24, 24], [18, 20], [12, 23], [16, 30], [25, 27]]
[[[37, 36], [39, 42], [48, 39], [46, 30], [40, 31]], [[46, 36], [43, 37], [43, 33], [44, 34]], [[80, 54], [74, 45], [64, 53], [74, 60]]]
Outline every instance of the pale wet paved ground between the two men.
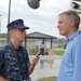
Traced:
[[[30, 56], [31, 58], [32, 56]], [[43, 63], [43, 68], [41, 68], [41, 59], [49, 59], [53, 60], [52, 67], [50, 67], [50, 63], [44, 62]], [[53, 77], [58, 75], [58, 69], [62, 60], [62, 56], [40, 56], [40, 60], [38, 62], [35, 71], [30, 76], [32, 81], [37, 81], [39, 78], [45, 78], [45, 77]]]

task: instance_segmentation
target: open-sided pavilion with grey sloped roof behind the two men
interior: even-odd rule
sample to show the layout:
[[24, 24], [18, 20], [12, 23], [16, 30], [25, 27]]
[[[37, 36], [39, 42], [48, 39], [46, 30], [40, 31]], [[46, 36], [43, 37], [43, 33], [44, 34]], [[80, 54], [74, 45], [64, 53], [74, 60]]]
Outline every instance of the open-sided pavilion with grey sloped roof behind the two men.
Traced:
[[40, 50], [39, 45], [41, 44], [41, 42], [44, 42], [44, 45], [45, 45], [45, 50], [44, 51], [45, 51], [45, 53], [48, 53], [48, 54], [51, 54], [51, 53], [54, 54], [54, 46], [53, 46], [53, 43], [54, 43], [53, 40], [54, 39], [57, 39], [57, 37], [35, 31], [35, 32], [28, 33], [26, 36], [26, 40], [25, 40], [25, 42], [23, 42], [23, 45], [25, 45], [26, 49], [29, 52], [30, 51], [38, 52]]

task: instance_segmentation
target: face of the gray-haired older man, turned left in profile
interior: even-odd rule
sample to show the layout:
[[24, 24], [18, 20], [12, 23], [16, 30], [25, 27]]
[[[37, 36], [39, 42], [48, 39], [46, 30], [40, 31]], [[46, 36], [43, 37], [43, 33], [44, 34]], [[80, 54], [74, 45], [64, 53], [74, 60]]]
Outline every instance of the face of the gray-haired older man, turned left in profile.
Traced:
[[72, 29], [72, 23], [66, 15], [59, 15], [57, 28], [59, 30], [59, 35], [69, 37]]

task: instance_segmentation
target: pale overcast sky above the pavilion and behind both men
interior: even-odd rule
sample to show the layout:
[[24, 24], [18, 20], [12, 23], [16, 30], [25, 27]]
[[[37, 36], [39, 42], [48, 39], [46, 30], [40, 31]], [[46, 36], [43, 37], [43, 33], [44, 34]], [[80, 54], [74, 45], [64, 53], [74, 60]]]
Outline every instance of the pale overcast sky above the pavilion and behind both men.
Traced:
[[[22, 18], [30, 29], [27, 33], [39, 31], [60, 37], [57, 29], [58, 14], [70, 10], [70, 0], [41, 0], [39, 9], [31, 9], [27, 0], [11, 0], [10, 22]], [[9, 0], [0, 0], [1, 32], [8, 32]]]

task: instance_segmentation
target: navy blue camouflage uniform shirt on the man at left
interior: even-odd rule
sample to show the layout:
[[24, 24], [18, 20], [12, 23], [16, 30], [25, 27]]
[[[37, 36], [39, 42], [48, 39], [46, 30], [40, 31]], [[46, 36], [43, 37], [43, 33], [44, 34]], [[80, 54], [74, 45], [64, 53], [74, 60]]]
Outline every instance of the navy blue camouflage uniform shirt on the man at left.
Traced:
[[30, 66], [28, 53], [23, 46], [16, 52], [18, 59], [9, 44], [0, 51], [0, 76], [10, 81], [23, 81], [28, 78], [27, 68]]

